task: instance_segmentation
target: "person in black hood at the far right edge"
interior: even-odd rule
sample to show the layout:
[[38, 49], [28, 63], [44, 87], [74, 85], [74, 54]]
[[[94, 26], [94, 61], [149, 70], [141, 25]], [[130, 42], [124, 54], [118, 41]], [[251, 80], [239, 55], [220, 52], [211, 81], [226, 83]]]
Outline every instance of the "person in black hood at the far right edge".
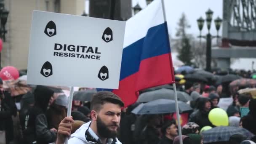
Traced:
[[242, 125], [243, 128], [256, 135], [256, 99], [249, 102], [249, 110], [248, 115], [243, 117]]

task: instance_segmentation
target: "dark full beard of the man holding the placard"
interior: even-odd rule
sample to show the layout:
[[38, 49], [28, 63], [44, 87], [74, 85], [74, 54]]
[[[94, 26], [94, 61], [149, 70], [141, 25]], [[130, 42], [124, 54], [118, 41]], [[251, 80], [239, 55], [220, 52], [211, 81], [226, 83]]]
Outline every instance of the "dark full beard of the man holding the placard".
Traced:
[[[117, 123], [112, 123], [111, 125], [106, 125], [101, 118], [98, 116], [97, 117], [97, 131], [99, 133], [100, 136], [104, 137], [104, 138], [115, 138], [117, 137], [117, 133], [119, 131], [119, 125]], [[108, 126], [117, 126], [117, 131], [111, 131]]]

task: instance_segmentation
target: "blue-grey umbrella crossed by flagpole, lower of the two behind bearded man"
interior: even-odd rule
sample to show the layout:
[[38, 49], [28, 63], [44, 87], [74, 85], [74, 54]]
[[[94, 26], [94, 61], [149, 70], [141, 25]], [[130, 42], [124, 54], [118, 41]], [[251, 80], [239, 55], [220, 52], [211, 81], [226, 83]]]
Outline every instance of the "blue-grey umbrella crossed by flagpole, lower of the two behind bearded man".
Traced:
[[[179, 112], [187, 112], [193, 110], [189, 104], [178, 101]], [[150, 101], [146, 104], [140, 104], [133, 109], [132, 113], [136, 115], [153, 115], [153, 114], [166, 114], [176, 112], [175, 101], [170, 99], [157, 99]]]

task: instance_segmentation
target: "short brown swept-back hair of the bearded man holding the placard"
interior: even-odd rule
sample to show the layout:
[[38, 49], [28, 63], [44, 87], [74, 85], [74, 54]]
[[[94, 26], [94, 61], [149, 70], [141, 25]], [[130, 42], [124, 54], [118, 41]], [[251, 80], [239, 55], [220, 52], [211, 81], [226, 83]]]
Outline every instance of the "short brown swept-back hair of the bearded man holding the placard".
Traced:
[[123, 101], [116, 94], [110, 91], [100, 91], [92, 96], [91, 110], [99, 111], [101, 110], [102, 105], [107, 102], [124, 107]]

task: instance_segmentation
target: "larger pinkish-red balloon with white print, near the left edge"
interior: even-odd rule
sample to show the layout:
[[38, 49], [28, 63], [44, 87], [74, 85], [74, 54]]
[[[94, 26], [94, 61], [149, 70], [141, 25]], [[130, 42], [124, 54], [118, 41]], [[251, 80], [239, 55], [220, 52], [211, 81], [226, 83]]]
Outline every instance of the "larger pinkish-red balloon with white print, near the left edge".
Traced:
[[19, 78], [19, 71], [15, 67], [7, 66], [0, 71], [2, 80], [17, 80]]

